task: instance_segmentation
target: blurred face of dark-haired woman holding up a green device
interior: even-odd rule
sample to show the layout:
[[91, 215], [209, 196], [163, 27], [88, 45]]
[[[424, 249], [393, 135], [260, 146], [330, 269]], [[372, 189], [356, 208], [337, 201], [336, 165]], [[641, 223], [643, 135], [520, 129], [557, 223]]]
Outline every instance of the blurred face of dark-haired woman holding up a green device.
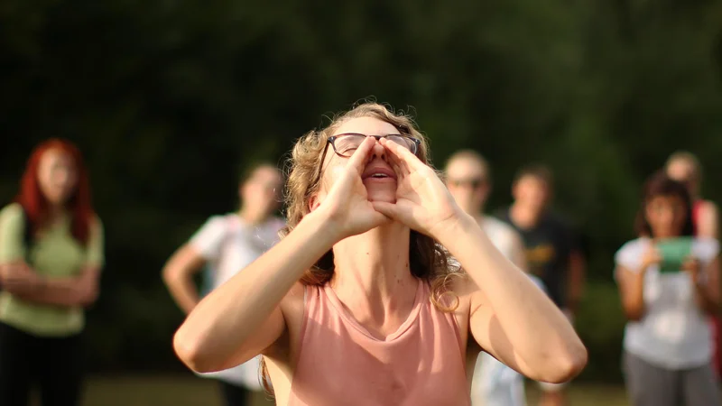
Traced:
[[681, 235], [687, 221], [687, 205], [679, 196], [655, 196], [647, 201], [645, 215], [656, 238]]

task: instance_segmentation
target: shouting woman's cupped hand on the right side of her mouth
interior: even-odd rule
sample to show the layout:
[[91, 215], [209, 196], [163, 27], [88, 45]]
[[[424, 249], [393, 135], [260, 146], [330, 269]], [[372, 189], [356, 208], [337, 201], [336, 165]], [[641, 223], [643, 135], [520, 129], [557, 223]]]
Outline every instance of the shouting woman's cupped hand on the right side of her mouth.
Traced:
[[374, 202], [374, 208], [425, 235], [439, 238], [440, 231], [462, 214], [436, 172], [412, 152], [381, 138], [397, 174], [396, 203]]

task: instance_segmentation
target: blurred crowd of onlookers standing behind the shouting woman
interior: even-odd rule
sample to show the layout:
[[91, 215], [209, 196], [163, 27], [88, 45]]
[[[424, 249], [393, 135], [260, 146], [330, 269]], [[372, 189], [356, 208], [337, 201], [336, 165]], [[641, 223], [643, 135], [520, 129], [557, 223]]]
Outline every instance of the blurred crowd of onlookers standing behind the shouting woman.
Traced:
[[[627, 318], [625, 383], [634, 405], [719, 404], [717, 206], [699, 195], [702, 166], [674, 152], [640, 191], [637, 237], [620, 247], [614, 277]], [[443, 180], [496, 248], [527, 272], [573, 323], [584, 295], [586, 259], [577, 230], [552, 209], [551, 171], [531, 164], [511, 185], [513, 203], [489, 213], [493, 171], [481, 153], [449, 157]], [[283, 173], [273, 163], [248, 169], [237, 185], [241, 205], [214, 214], [173, 253], [162, 280], [190, 313], [279, 241]], [[27, 406], [38, 385], [42, 404], [80, 404], [84, 308], [98, 295], [104, 263], [102, 219], [90, 199], [82, 154], [64, 140], [36, 147], [17, 197], [0, 211], [0, 404]], [[201, 286], [194, 282], [202, 274]], [[169, 341], [170, 345], [170, 341]], [[474, 405], [526, 404], [524, 377], [493, 356], [476, 359]], [[202, 378], [218, 381], [227, 406], [248, 404], [260, 360]], [[542, 406], [569, 404], [573, 383], [539, 383]]]

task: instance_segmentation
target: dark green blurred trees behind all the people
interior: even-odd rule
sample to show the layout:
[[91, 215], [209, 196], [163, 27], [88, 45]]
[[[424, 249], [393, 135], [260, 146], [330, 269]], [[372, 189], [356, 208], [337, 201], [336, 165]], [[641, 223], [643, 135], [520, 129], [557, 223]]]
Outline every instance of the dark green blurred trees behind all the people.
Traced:
[[722, 201], [721, 78], [712, 0], [5, 0], [0, 200], [33, 144], [78, 143], [107, 234], [93, 366], [180, 368], [162, 263], [235, 208], [246, 162], [282, 162], [324, 115], [375, 97], [417, 117], [438, 166], [458, 148], [485, 154], [493, 208], [519, 166], [551, 166], [589, 254], [584, 376], [616, 380], [612, 256], [670, 152], [698, 154], [705, 196]]

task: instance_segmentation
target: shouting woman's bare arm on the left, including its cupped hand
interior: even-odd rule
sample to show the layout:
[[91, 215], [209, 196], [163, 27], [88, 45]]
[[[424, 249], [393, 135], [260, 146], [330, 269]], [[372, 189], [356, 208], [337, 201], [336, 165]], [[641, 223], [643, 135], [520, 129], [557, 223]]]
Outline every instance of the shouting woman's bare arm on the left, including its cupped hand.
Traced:
[[373, 137], [358, 147], [323, 203], [282, 241], [200, 301], [176, 333], [180, 359], [198, 372], [241, 364], [275, 343], [286, 328], [282, 300], [303, 272], [336, 242], [388, 221], [366, 196], [361, 173]]

